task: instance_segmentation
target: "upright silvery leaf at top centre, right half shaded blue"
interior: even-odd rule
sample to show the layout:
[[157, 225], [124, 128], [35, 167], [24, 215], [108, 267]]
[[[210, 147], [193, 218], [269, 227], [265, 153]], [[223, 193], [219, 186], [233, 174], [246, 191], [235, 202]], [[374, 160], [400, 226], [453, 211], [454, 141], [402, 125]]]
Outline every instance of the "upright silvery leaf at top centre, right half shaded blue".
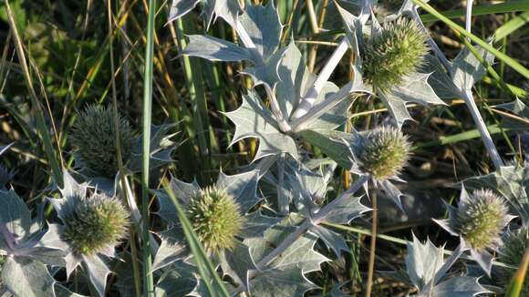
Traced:
[[283, 30], [274, 2], [271, 1], [266, 6], [248, 5], [239, 20], [254, 41], [259, 56], [265, 60], [272, 56], [279, 46]]

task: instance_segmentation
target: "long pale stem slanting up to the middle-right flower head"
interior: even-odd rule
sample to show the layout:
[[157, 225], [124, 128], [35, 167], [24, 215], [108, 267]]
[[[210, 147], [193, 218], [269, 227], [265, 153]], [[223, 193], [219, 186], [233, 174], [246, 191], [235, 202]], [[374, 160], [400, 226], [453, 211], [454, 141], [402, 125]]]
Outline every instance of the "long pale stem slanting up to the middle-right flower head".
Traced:
[[290, 247], [292, 243], [294, 243], [301, 235], [305, 234], [306, 230], [309, 230], [311, 226], [318, 225], [323, 220], [325, 220], [331, 210], [333, 210], [343, 200], [346, 200], [351, 195], [353, 195], [358, 189], [362, 188], [366, 181], [368, 181], [368, 176], [361, 176], [349, 189], [343, 192], [340, 197], [338, 197], [336, 200], [332, 200], [322, 210], [316, 213], [313, 220], [307, 218], [299, 227], [297, 227], [296, 231], [290, 233], [290, 235], [288, 235], [285, 240], [281, 242], [281, 244], [279, 244], [273, 251], [270, 251], [269, 254], [267, 254], [261, 261], [257, 263], [257, 269], [263, 270], [266, 265], [268, 265], [271, 261], [274, 261], [277, 256], [286, 251], [286, 249], [288, 249], [288, 247]]

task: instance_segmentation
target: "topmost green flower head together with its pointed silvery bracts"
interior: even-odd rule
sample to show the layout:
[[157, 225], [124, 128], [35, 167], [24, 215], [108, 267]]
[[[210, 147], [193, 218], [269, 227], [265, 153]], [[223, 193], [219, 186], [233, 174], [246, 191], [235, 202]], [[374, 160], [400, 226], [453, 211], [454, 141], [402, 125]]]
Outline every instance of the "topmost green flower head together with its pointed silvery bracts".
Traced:
[[[401, 8], [399, 18], [382, 25], [371, 15], [371, 30], [366, 39], [362, 29], [371, 5], [366, 2], [358, 16], [339, 5], [337, 8], [349, 45], [356, 51], [355, 65], [367, 87], [382, 100], [400, 127], [412, 119], [406, 108], [408, 102], [424, 106], [446, 104], [430, 87], [430, 74], [420, 71], [430, 50], [425, 28], [415, 18], [401, 16]], [[410, 8], [407, 5], [410, 4], [402, 7]]]

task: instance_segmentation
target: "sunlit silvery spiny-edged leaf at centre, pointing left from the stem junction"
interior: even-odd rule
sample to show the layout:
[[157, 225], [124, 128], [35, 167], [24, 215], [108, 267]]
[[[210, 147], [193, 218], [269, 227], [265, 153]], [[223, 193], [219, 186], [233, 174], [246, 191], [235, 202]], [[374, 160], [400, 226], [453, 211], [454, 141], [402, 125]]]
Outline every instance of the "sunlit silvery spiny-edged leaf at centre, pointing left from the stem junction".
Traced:
[[225, 116], [235, 124], [232, 146], [244, 138], [258, 138], [259, 148], [255, 159], [279, 153], [288, 153], [297, 157], [296, 142], [280, 132], [270, 110], [261, 105], [257, 94], [243, 96], [243, 104]]

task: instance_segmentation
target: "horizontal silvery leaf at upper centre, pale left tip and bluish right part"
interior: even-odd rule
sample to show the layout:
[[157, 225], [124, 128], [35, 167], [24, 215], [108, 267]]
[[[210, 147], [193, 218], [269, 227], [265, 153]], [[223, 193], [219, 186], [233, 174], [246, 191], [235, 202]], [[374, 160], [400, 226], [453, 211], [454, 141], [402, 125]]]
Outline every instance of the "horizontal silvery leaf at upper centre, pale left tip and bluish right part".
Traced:
[[251, 52], [232, 42], [213, 36], [192, 35], [183, 49], [182, 55], [199, 56], [210, 61], [242, 61], [251, 60]]

